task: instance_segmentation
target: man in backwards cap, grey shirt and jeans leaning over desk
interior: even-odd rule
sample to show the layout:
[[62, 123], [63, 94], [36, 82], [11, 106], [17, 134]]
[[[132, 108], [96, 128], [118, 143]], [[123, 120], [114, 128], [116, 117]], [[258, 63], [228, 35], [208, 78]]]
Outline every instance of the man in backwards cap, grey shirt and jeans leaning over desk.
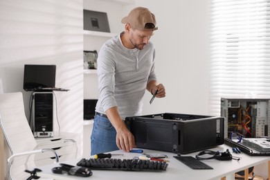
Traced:
[[121, 21], [125, 31], [107, 41], [98, 55], [99, 98], [91, 134], [91, 155], [136, 147], [125, 126], [127, 116], [140, 116], [145, 89], [165, 97], [154, 73], [155, 50], [150, 37], [156, 19], [147, 8], [134, 8]]

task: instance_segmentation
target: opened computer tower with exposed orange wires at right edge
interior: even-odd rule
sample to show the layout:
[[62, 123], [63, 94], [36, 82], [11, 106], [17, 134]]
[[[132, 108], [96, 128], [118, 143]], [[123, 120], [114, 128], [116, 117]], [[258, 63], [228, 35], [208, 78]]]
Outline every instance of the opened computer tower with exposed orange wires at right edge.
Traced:
[[224, 135], [242, 134], [246, 138], [269, 136], [270, 99], [221, 98]]

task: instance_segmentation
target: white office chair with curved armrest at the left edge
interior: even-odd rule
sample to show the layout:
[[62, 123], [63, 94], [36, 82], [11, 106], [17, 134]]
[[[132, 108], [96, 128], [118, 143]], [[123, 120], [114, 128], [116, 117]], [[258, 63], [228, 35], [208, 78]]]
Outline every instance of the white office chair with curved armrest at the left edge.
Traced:
[[8, 158], [10, 179], [30, 177], [30, 174], [24, 171], [35, 168], [33, 154], [50, 151], [55, 155], [55, 161], [58, 161], [55, 150], [37, 150], [37, 143], [24, 112], [21, 92], [0, 94], [0, 125], [12, 154]]

